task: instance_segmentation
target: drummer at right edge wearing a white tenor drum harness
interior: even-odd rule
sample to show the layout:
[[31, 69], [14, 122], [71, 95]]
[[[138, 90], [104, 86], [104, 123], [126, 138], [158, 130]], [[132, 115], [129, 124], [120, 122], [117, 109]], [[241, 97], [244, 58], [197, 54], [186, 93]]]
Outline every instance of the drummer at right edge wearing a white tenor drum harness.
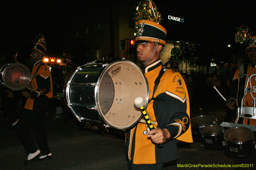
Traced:
[[[230, 91], [230, 98], [226, 106], [229, 109], [235, 109], [236, 106], [241, 107], [241, 102], [244, 97], [244, 88], [247, 83], [247, 77], [244, 76], [239, 77], [241, 72], [244, 72], [248, 77], [252, 74], [256, 74], [256, 36], [250, 37], [249, 40], [246, 41], [246, 44], [249, 45], [245, 51], [248, 54], [248, 63], [242, 63], [240, 69], [236, 70], [236, 73], [232, 80], [232, 86]], [[242, 70], [241, 70], [242, 69]], [[252, 83], [252, 95], [256, 97], [256, 76], [251, 78]], [[243, 106], [245, 107], [254, 107], [254, 100], [251, 94], [248, 92], [244, 98]], [[248, 119], [248, 118], [241, 118], [239, 117], [238, 122], [240, 124], [247, 124], [247, 125], [256, 125], [256, 119]]]

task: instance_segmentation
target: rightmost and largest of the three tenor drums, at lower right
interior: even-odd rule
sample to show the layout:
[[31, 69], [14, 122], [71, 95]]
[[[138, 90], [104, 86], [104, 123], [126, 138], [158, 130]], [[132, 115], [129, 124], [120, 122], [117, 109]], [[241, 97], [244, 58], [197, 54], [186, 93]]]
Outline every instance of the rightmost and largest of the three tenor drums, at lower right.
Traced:
[[235, 157], [252, 157], [255, 155], [255, 142], [251, 129], [235, 127], [224, 132], [226, 151]]

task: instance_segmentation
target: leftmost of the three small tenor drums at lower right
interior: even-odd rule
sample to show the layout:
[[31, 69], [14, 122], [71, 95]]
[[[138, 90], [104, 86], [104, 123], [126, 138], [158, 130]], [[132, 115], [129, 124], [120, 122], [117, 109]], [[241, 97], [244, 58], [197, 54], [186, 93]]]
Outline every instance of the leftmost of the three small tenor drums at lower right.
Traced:
[[209, 125], [217, 124], [214, 116], [197, 116], [191, 119], [192, 137], [194, 140], [202, 140], [202, 129]]

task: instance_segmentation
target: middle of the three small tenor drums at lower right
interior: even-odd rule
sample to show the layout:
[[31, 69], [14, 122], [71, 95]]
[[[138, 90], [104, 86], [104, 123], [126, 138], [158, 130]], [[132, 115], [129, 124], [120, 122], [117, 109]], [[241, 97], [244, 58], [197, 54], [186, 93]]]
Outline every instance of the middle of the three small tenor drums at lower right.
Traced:
[[204, 146], [220, 147], [223, 146], [223, 133], [225, 129], [220, 125], [210, 125], [202, 129]]

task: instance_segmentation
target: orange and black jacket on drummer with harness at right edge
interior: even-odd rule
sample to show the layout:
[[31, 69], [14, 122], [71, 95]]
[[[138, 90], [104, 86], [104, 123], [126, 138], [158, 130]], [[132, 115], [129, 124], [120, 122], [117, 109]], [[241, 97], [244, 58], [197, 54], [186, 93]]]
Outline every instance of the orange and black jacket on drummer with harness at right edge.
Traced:
[[[239, 107], [241, 107], [242, 105], [242, 99], [245, 95], [245, 87], [248, 81], [247, 76], [242, 76], [242, 77], [239, 76], [240, 71], [242, 71], [244, 74], [246, 74], [250, 78], [251, 75], [256, 74], [256, 65], [252, 66], [252, 63], [242, 63], [240, 66], [240, 69], [236, 70], [236, 73], [233, 77], [229, 100], [230, 99], [236, 100], [236, 105]], [[251, 77], [251, 85], [252, 85], [252, 96], [256, 98], [256, 76]], [[250, 83], [248, 83], [247, 87], [251, 87]], [[251, 93], [249, 92], [246, 93], [246, 96], [244, 97], [244, 101], [243, 101], [243, 106], [254, 107], [254, 100], [252, 96], [251, 96]], [[256, 126], [255, 119], [239, 117], [237, 123]]]

